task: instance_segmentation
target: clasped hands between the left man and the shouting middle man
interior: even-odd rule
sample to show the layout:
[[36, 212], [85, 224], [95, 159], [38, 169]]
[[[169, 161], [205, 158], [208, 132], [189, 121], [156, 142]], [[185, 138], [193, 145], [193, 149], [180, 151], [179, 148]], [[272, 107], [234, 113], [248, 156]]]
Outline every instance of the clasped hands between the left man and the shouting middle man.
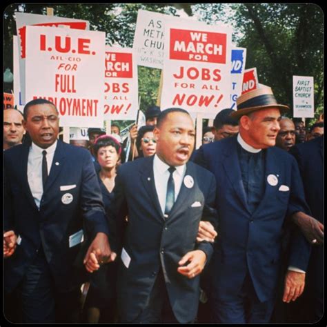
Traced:
[[114, 261], [116, 257], [117, 254], [111, 251], [107, 235], [103, 232], [98, 232], [88, 248], [83, 264], [89, 273], [93, 273], [93, 271], [100, 268], [100, 264]]

